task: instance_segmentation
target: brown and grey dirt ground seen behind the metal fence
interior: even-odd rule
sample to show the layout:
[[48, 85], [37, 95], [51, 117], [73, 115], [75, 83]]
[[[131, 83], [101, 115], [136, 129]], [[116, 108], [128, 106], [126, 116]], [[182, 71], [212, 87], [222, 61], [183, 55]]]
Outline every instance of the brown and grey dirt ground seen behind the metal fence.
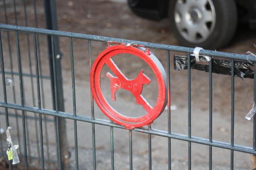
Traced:
[[[44, 27], [44, 10], [42, 2], [38, 3], [38, 19], [39, 27]], [[86, 33], [91, 35], [101, 35], [106, 37], [116, 37], [137, 41], [147, 41], [152, 43], [162, 43], [168, 45], [178, 45], [174, 39], [172, 31], [169, 29], [168, 19], [155, 22], [144, 20], [135, 16], [128, 8], [126, 2], [110, 1], [110, 0], [85, 0], [85, 1], [68, 1], [56, 0], [58, 13], [58, 29], [61, 31], [70, 31], [76, 33]], [[32, 16], [33, 3], [27, 1], [27, 10]], [[8, 7], [9, 8], [9, 7]], [[20, 20], [24, 19], [22, 8], [17, 8]], [[14, 24], [14, 13], [10, 7], [9, 23]], [[0, 18], [3, 16], [0, 12]], [[0, 19], [2, 23], [3, 19]], [[34, 27], [33, 18], [28, 18], [28, 26]], [[19, 25], [24, 25], [20, 22]], [[14, 34], [10, 36], [13, 45]], [[25, 39], [25, 35], [20, 34], [20, 39]], [[30, 37], [31, 38], [31, 37]], [[43, 73], [48, 75], [47, 49], [44, 36], [40, 36], [40, 44], [42, 46], [42, 64], [44, 66]], [[2, 35], [3, 42], [6, 42], [6, 35]], [[31, 39], [32, 40], [32, 39]], [[32, 42], [32, 41], [31, 41]], [[89, 86], [89, 62], [88, 62], [88, 44], [87, 41], [74, 39], [74, 65], [75, 65], [75, 82], [76, 82], [76, 106], [77, 114], [90, 116], [90, 86]], [[246, 54], [247, 51], [256, 53], [254, 47], [256, 43], [255, 31], [250, 30], [246, 25], [239, 25], [237, 33], [227, 47], [216, 49], [230, 53]], [[21, 41], [22, 67], [24, 72], [29, 72], [29, 63], [27, 62], [28, 52], [26, 50], [26, 41]], [[4, 49], [7, 49], [7, 43], [3, 43]], [[31, 46], [32, 47], [32, 46]], [[107, 47], [106, 43], [92, 41], [92, 57], [95, 59], [98, 54]], [[31, 48], [32, 49], [32, 48]], [[31, 50], [32, 51], [32, 50]], [[71, 67], [70, 67], [70, 49], [69, 39], [60, 37], [60, 51], [62, 57], [62, 75], [64, 86], [65, 111], [73, 113], [72, 106], [72, 84], [71, 84]], [[166, 69], [166, 51], [158, 49], [150, 49], [152, 53], [159, 59]], [[33, 54], [33, 52], [31, 52]], [[16, 49], [13, 49], [16, 54]], [[170, 56], [181, 54], [170, 52]], [[4, 55], [8, 56], [8, 50], [4, 50]], [[120, 59], [122, 58], [122, 59]], [[156, 78], [150, 68], [142, 61], [135, 57], [118, 56], [114, 61], [122, 72], [128, 78], [134, 78], [143, 68], [144, 73], [150, 77], [152, 82], [144, 86], [142, 95], [148, 102], [154, 105], [156, 101], [157, 84]], [[170, 58], [171, 68], [171, 105], [176, 109], [171, 111], [171, 129], [174, 133], [188, 134], [188, 80], [187, 72], [175, 71], [173, 68], [173, 57]], [[10, 61], [6, 59], [5, 68], [8, 70]], [[15, 65], [16, 64], [16, 65]], [[17, 70], [17, 63], [14, 61]], [[35, 71], [33, 67], [32, 71]], [[116, 102], [110, 100], [109, 80], [104, 77], [108, 68], [102, 70], [102, 92], [108, 102], [124, 115], [138, 116], [141, 115], [143, 109], [136, 105], [134, 96], [125, 90], [118, 90], [116, 94]], [[192, 106], [192, 136], [208, 139], [209, 137], [209, 80], [208, 73], [192, 70], [191, 74], [191, 106]], [[31, 88], [29, 79], [24, 78], [27, 105], [32, 106], [33, 99], [29, 96]], [[18, 77], [14, 79], [17, 87], [17, 96], [19, 96]], [[44, 81], [44, 88], [50, 91], [49, 81]], [[27, 85], [27, 86], [26, 86]], [[2, 85], [1, 85], [2, 89]], [[8, 87], [8, 93], [12, 93], [12, 89]], [[2, 90], [1, 90], [2, 91]], [[13, 98], [9, 101], [12, 101]], [[0, 100], [3, 95], [0, 95]], [[19, 99], [17, 97], [17, 99]], [[52, 109], [51, 96], [46, 95], [46, 106]], [[17, 100], [18, 101], [18, 100]], [[17, 102], [19, 103], [19, 102]], [[253, 122], [244, 119], [244, 116], [253, 104], [253, 80], [235, 78], [235, 144], [252, 147], [252, 128]], [[230, 143], [230, 119], [231, 119], [231, 77], [226, 75], [213, 74], [213, 140]], [[96, 104], [95, 117], [107, 119], [107, 117], [98, 109]], [[1, 111], [4, 109], [1, 108]], [[4, 118], [4, 117], [3, 117]], [[5, 124], [4, 119], [0, 120], [1, 125]], [[12, 126], [16, 126], [14, 119], [11, 120]], [[34, 123], [28, 122], [28, 127]], [[53, 123], [49, 123], [49, 128], [54, 128]], [[4, 126], [3, 126], [4, 127]], [[167, 111], [165, 110], [152, 124], [152, 128], [167, 131]], [[14, 128], [15, 129], [15, 128]], [[69, 151], [71, 153], [70, 166], [74, 169], [74, 124], [73, 121], [67, 120], [67, 134]], [[36, 140], [33, 138], [36, 132], [30, 130], [30, 145], [32, 146], [31, 154], [36, 156]], [[78, 122], [78, 154], [79, 167], [81, 169], [92, 169], [92, 134], [91, 124]], [[14, 141], [17, 140], [17, 131], [13, 130]], [[56, 152], [53, 149], [55, 138], [54, 134], [50, 137], [50, 155], [56, 158]], [[134, 169], [148, 169], [148, 135], [133, 132], [133, 166]], [[3, 140], [4, 141], [4, 140]], [[129, 145], [128, 131], [122, 129], [114, 129], [114, 158], [115, 168], [129, 169]], [[52, 151], [54, 150], [54, 151]], [[3, 150], [2, 150], [3, 151]], [[167, 139], [152, 135], [152, 169], [164, 170], [168, 169], [168, 151]], [[98, 169], [110, 169], [110, 129], [101, 125], [96, 125], [96, 158]], [[188, 166], [188, 143], [184, 141], [172, 140], [172, 169], [187, 169]], [[49, 169], [55, 168], [49, 166]], [[213, 148], [213, 169], [229, 169], [230, 168], [230, 151], [225, 149]], [[234, 169], [243, 170], [252, 168], [252, 161], [249, 154], [234, 152]], [[208, 147], [192, 143], [192, 169], [204, 170], [208, 169]]]

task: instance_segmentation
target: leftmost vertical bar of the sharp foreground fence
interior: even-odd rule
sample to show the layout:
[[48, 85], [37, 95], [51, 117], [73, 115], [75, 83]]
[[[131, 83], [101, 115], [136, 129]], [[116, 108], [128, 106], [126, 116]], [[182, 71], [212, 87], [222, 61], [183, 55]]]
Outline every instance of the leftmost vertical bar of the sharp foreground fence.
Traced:
[[[3, 90], [4, 90], [4, 104], [7, 104], [7, 95], [6, 95], [6, 84], [5, 84], [5, 75], [4, 75], [4, 55], [3, 55], [3, 47], [2, 47], [2, 35], [0, 29], [0, 57], [1, 57], [1, 71], [2, 71], [2, 82], [3, 82]], [[9, 117], [8, 117], [8, 109], [5, 107], [5, 121], [6, 121], [6, 129], [9, 126]], [[12, 162], [9, 160], [9, 169], [12, 169]]]

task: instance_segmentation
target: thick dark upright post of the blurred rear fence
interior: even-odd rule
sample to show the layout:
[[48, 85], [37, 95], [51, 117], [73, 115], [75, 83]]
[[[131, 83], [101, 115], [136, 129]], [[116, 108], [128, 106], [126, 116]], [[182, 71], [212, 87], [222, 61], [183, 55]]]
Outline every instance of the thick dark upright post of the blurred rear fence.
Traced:
[[[56, 14], [56, 3], [55, 0], [44, 0], [44, 14], [45, 14], [45, 21], [46, 21], [46, 28], [52, 29], [52, 30], [58, 30], [57, 26], [57, 14]], [[58, 96], [53, 97], [53, 101], [58, 98], [58, 111], [64, 111], [64, 96], [63, 96], [63, 88], [62, 88], [62, 71], [61, 71], [61, 53], [59, 49], [59, 39], [58, 36], [52, 36], [50, 37], [48, 35], [48, 49], [49, 49], [49, 59], [50, 62], [55, 61], [55, 73], [56, 73], [56, 84], [57, 86], [57, 92]], [[52, 46], [52, 40], [54, 39], [54, 46]], [[52, 53], [52, 47], [54, 47], [54, 54]], [[50, 63], [50, 73], [53, 74], [53, 63]], [[52, 82], [52, 91], [54, 91], [54, 81], [53, 76], [51, 75], [51, 82]], [[54, 102], [53, 102], [54, 103]], [[55, 106], [55, 104], [54, 104]], [[54, 108], [55, 109], [55, 108]], [[61, 117], [55, 117], [54, 119], [58, 119], [58, 132], [60, 133], [60, 147], [61, 147], [61, 164], [62, 169], [66, 170], [68, 169], [68, 142], [67, 142], [67, 136], [66, 136], [66, 120]], [[57, 121], [55, 121], [57, 124]], [[57, 127], [57, 125], [56, 125]]]

